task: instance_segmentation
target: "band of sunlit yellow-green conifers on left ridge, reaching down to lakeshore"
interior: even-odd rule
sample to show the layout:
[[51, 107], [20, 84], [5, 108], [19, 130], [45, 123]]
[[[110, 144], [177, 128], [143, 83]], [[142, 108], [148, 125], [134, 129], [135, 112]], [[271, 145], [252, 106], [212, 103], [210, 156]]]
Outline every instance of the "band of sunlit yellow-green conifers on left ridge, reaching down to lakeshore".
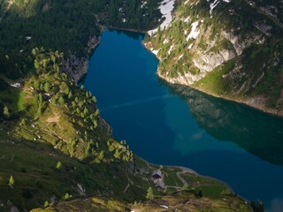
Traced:
[[[66, 148], [70, 155], [84, 148], [80, 153], [94, 156], [96, 163], [106, 161], [132, 161], [133, 153], [126, 147], [126, 141], [120, 143], [108, 140], [102, 143], [96, 134], [102, 131], [99, 110], [96, 108], [96, 97], [83, 86], [77, 87], [73, 81], [68, 81], [58, 65], [62, 55], [58, 52], [33, 49], [35, 77], [30, 80], [33, 88], [34, 118], [41, 117], [50, 103], [61, 107], [67, 115], [69, 126], [76, 133], [67, 140]], [[27, 83], [28, 84], [28, 83]], [[28, 85], [27, 85], [28, 86]], [[101, 124], [99, 124], [101, 123]], [[60, 146], [58, 146], [60, 147]], [[79, 147], [79, 149], [77, 149]]]

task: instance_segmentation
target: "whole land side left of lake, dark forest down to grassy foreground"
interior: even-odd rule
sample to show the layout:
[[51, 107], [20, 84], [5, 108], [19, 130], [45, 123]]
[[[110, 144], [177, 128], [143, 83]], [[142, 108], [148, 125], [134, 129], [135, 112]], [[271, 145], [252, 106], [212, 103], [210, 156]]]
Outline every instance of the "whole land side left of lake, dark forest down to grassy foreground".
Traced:
[[156, 27], [159, 2], [0, 2], [0, 211], [252, 211], [215, 179], [134, 155], [76, 84], [103, 27]]

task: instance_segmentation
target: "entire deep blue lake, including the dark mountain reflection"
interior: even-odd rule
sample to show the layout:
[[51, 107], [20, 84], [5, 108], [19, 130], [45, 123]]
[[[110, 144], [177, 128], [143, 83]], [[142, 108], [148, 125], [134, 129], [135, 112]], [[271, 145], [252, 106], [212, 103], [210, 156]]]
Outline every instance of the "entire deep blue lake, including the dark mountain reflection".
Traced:
[[181, 165], [223, 180], [241, 196], [283, 202], [283, 119], [170, 87], [142, 34], [105, 31], [84, 86], [118, 140], [150, 163]]

